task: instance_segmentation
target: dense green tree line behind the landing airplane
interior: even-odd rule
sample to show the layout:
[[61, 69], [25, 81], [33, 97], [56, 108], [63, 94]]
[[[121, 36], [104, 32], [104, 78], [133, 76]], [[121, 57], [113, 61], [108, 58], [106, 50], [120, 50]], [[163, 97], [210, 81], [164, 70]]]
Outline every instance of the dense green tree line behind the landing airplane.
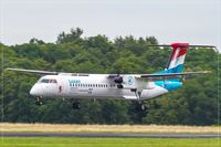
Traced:
[[217, 125], [220, 54], [208, 49], [189, 50], [186, 71], [212, 71], [185, 81], [183, 86], [155, 99], [145, 101], [147, 111], [136, 109], [136, 102], [104, 99], [81, 101], [81, 109], [62, 98], [44, 99], [36, 106], [29, 95], [39, 75], [3, 71], [22, 67], [81, 73], [152, 73], [164, 70], [170, 49], [158, 44], [154, 36], [133, 35], [109, 40], [105, 35], [82, 38], [83, 30], [72, 29], [59, 34], [56, 43], [31, 39], [29, 43], [7, 46], [0, 43], [0, 102], [4, 122], [69, 124], [179, 124]]

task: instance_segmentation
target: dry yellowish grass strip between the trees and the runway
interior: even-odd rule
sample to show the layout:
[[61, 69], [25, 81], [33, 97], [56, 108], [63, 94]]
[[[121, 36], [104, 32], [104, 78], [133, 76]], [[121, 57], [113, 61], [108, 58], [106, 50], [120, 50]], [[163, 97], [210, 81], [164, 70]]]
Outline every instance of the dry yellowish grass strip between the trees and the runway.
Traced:
[[0, 132], [30, 133], [192, 133], [218, 134], [213, 126], [0, 124]]

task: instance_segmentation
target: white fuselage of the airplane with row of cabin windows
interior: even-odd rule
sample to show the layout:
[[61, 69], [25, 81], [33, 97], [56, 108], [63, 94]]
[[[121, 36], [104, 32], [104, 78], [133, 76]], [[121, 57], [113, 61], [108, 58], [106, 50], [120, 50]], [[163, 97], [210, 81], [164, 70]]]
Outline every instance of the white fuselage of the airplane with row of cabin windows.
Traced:
[[[42, 76], [30, 91], [31, 95], [67, 98], [125, 98], [137, 99], [136, 75], [123, 75], [123, 88], [107, 74], [59, 74]], [[141, 99], [152, 98], [168, 91], [155, 84], [143, 82]]]

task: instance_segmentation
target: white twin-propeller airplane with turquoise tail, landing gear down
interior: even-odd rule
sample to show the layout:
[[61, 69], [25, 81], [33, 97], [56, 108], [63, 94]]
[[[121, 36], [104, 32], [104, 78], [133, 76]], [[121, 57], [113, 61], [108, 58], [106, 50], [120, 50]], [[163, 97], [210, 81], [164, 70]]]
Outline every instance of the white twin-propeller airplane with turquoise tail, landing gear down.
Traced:
[[[36, 71], [8, 67], [8, 71], [20, 71], [43, 76], [32, 86], [30, 94], [36, 96], [36, 104], [42, 105], [42, 97], [61, 98], [99, 98], [137, 101], [145, 109], [143, 101], [150, 99], [182, 86], [182, 78], [193, 74], [209, 74], [210, 71], [183, 72], [183, 63], [189, 48], [215, 48], [212, 45], [189, 45], [171, 43], [173, 49], [166, 69], [152, 74], [87, 74]], [[80, 108], [78, 101], [72, 104]]]

